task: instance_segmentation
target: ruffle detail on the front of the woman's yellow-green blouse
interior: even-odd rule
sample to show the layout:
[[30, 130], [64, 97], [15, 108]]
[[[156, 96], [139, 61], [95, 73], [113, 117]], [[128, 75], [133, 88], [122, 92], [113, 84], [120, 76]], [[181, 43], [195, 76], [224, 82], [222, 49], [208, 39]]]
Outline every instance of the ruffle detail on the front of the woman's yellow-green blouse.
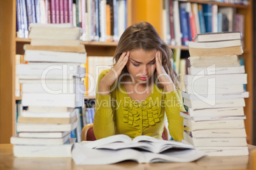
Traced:
[[[139, 116], [138, 110], [141, 112], [141, 116]], [[142, 119], [143, 128], [153, 126], [155, 123], [160, 122], [158, 107], [156, 103], [153, 103], [152, 98], [144, 100], [141, 103], [131, 98], [126, 99], [124, 102], [123, 115], [123, 121], [131, 126], [139, 126], [139, 124], [135, 122], [139, 119]]]

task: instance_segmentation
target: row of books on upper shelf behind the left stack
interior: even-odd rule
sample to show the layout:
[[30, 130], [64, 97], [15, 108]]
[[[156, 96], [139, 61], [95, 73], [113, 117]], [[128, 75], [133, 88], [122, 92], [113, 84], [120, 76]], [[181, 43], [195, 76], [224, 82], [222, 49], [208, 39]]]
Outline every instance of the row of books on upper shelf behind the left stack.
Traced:
[[126, 0], [17, 0], [17, 37], [31, 23], [73, 23], [82, 41], [118, 41], [127, 27]]

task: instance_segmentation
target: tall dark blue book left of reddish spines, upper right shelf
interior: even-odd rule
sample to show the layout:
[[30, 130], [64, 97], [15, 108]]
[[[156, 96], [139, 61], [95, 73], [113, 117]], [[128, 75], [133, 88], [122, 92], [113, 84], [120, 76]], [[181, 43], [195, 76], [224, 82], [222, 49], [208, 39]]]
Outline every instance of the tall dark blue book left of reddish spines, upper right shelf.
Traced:
[[188, 20], [186, 12], [186, 4], [180, 4], [180, 28], [181, 28], [181, 44], [188, 46], [189, 33], [188, 33]]

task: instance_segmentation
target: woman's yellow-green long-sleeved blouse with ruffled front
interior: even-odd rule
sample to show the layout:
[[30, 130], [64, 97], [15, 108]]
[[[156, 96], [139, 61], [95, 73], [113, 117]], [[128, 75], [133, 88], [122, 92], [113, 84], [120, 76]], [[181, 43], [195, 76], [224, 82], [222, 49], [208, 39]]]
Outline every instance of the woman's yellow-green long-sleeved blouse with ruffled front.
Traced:
[[99, 82], [109, 71], [103, 70], [97, 82], [94, 115], [94, 134], [97, 139], [114, 134], [127, 134], [131, 138], [148, 135], [161, 139], [166, 117], [172, 138], [176, 141], [183, 139], [180, 110], [185, 109], [179, 89], [165, 93], [154, 84], [150, 96], [141, 103], [127, 95], [123, 84], [117, 84], [110, 95], [99, 95]]

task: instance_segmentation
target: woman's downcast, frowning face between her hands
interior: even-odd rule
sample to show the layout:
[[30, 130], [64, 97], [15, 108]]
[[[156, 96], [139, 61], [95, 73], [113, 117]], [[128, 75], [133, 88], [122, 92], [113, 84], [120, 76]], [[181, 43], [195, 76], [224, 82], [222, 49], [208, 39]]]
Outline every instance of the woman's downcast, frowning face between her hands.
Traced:
[[155, 72], [155, 53], [157, 49], [145, 51], [138, 48], [130, 51], [126, 67], [135, 83], [146, 83], [152, 77]]

